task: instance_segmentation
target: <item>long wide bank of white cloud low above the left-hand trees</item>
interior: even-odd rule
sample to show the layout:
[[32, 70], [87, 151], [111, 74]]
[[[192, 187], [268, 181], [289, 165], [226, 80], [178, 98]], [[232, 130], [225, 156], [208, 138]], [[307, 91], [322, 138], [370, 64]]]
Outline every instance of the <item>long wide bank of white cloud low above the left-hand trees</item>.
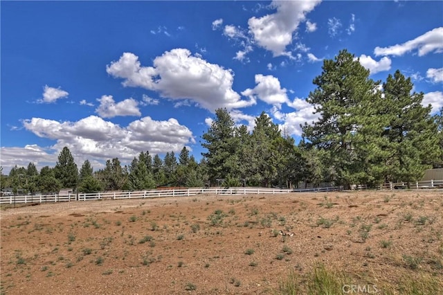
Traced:
[[[32, 118], [24, 120], [24, 127], [33, 134], [57, 141], [51, 150], [60, 152], [64, 146], [69, 147], [73, 157], [89, 159], [89, 161], [103, 162], [107, 159], [118, 157], [122, 163], [130, 162], [141, 151], [149, 150], [152, 154], [165, 152], [179, 152], [183, 146], [195, 143], [194, 136], [188, 127], [181, 125], [177, 119], [152, 120], [144, 117], [134, 120], [126, 127], [111, 123], [98, 116], [89, 116], [76, 122], [58, 122], [45, 118]], [[17, 147], [15, 150], [1, 150], [3, 160], [8, 163], [19, 163], [21, 153], [35, 154], [36, 161], [51, 162], [55, 165], [57, 156], [53, 157], [39, 147], [36, 151], [29, 151], [30, 147]], [[27, 149], [27, 150], [26, 150]], [[3, 158], [11, 154], [10, 158]], [[17, 152], [21, 151], [21, 152]], [[14, 156], [12, 152], [17, 152]], [[38, 158], [40, 157], [40, 158]], [[34, 159], [34, 158], [25, 158]], [[40, 159], [40, 160], [39, 160]], [[28, 163], [26, 163], [27, 165]], [[82, 162], [78, 162], [82, 164]]]

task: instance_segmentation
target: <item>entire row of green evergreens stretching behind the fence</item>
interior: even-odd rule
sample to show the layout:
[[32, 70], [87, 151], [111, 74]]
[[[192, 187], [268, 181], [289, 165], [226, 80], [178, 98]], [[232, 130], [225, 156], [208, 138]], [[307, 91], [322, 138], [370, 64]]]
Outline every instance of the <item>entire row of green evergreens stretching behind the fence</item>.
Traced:
[[33, 163], [16, 166], [8, 176], [1, 175], [1, 187], [29, 193], [208, 184], [291, 188], [323, 182], [375, 187], [386, 181], [416, 181], [425, 169], [442, 168], [443, 108], [431, 116], [431, 106], [422, 106], [424, 93], [413, 91], [410, 78], [398, 70], [384, 82], [369, 75], [347, 50], [324, 60], [322, 73], [313, 80], [316, 88], [307, 97], [319, 118], [300, 126], [298, 144], [264, 111], [248, 132], [245, 125], [235, 125], [226, 109], [217, 109], [201, 136], [206, 152], [198, 163], [183, 147], [178, 159], [174, 152], [161, 159], [147, 151], [129, 166], [114, 158], [95, 172], [84, 161], [79, 171], [64, 147], [54, 168], [38, 172]]

